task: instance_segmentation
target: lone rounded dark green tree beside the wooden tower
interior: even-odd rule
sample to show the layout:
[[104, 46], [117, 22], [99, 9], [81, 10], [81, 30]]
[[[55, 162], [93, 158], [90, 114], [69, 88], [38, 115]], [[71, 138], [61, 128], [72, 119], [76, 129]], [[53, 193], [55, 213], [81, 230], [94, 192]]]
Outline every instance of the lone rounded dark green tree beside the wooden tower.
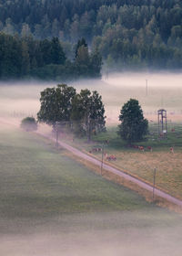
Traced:
[[137, 100], [130, 99], [123, 105], [119, 121], [121, 124], [118, 126], [118, 133], [126, 142], [138, 142], [147, 135], [148, 122]]

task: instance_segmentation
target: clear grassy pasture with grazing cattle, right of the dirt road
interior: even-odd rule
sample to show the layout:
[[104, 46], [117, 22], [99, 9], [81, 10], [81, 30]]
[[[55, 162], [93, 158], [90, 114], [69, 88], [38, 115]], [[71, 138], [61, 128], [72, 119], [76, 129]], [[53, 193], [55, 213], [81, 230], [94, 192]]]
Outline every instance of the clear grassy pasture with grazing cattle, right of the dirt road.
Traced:
[[[128, 147], [118, 137], [116, 127], [108, 127], [106, 133], [93, 137], [91, 144], [86, 144], [86, 139], [75, 139], [74, 144], [89, 152], [94, 147], [102, 147], [103, 142], [108, 140], [109, 143], [105, 145], [105, 153], [116, 155], [116, 161], [110, 162], [112, 165], [142, 178], [150, 184], [153, 184], [154, 169], [156, 168], [157, 187], [174, 197], [182, 199], [182, 124], [168, 123], [167, 126], [167, 138], [158, 140], [157, 123], [150, 123], [150, 134], [147, 141], [137, 144], [146, 148], [144, 152]], [[171, 132], [172, 129], [175, 129], [175, 131]], [[147, 146], [151, 146], [153, 151], [147, 150]], [[171, 146], [174, 147], [174, 154], [170, 152]], [[99, 159], [102, 157], [101, 153], [93, 154]]]

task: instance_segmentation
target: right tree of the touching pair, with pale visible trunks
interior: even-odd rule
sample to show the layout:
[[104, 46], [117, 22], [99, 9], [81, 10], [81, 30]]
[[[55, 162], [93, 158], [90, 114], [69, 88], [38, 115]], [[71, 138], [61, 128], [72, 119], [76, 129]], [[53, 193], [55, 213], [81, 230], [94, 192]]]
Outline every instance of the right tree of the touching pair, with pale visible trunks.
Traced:
[[97, 91], [81, 90], [73, 100], [72, 120], [76, 133], [86, 133], [90, 142], [93, 133], [106, 130], [105, 108]]

